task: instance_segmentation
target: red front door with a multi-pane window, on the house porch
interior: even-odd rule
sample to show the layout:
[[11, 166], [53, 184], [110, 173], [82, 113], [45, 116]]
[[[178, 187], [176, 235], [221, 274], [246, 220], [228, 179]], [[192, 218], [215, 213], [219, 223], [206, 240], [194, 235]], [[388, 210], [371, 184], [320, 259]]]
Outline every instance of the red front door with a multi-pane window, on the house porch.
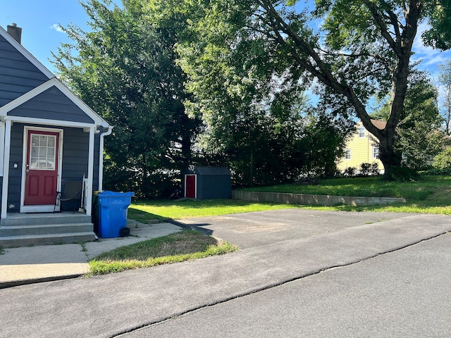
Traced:
[[28, 130], [25, 205], [54, 204], [58, 184], [59, 133]]

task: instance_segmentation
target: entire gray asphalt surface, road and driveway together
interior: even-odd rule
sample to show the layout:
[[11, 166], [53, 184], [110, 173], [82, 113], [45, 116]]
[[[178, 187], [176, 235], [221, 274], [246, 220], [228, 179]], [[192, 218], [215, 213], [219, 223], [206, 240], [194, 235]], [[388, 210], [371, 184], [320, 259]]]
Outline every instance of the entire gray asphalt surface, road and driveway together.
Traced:
[[242, 250], [1, 289], [0, 337], [451, 336], [447, 216], [290, 209], [189, 222]]

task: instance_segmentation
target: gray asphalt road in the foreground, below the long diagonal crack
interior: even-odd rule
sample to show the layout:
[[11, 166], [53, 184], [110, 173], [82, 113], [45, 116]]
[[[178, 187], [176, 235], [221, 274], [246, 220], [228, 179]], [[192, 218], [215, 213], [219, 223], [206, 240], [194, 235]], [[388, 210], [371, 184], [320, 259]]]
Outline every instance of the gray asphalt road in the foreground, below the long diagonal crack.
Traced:
[[451, 337], [450, 248], [443, 235], [121, 337]]

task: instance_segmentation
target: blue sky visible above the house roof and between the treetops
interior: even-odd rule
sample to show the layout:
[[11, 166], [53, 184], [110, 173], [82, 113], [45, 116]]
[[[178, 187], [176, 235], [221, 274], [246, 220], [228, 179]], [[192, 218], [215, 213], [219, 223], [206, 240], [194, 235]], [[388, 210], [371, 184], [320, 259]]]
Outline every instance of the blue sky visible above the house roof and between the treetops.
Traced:
[[[6, 30], [11, 23], [22, 27], [22, 45], [52, 72], [53, 65], [48, 61], [51, 51], [56, 53], [61, 42], [70, 42], [63, 32], [58, 31], [58, 24], [67, 27], [75, 23], [87, 29], [88, 18], [78, 0], [0, 0], [0, 8], [1, 27]], [[437, 65], [451, 58], [451, 51], [426, 48], [420, 39], [415, 43], [415, 51], [412, 59], [423, 59], [421, 68], [430, 73], [436, 73]]]

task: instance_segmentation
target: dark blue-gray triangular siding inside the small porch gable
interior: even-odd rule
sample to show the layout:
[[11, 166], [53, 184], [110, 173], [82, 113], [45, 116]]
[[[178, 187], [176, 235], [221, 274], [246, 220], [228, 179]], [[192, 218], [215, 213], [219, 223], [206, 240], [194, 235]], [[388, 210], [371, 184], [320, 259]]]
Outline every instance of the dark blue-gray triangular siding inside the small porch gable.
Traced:
[[45, 118], [80, 123], [94, 123], [84, 111], [75, 105], [58, 88], [51, 87], [29, 101], [14, 108], [10, 116]]

